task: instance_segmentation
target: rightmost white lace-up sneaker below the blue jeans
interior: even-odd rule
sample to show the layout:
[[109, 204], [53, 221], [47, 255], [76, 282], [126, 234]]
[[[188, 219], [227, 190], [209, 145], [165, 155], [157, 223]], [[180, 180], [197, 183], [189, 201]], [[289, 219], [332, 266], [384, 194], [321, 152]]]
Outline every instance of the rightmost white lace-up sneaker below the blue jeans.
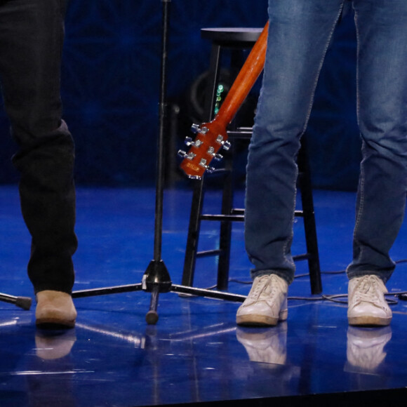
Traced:
[[387, 288], [378, 276], [349, 281], [347, 317], [350, 325], [389, 325], [392, 311], [385, 300]]

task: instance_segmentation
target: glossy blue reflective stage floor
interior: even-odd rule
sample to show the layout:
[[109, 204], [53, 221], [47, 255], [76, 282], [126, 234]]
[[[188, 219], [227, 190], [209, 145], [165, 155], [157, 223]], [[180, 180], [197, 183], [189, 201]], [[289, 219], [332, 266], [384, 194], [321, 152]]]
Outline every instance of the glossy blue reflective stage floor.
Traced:
[[[153, 189], [79, 188], [75, 291], [140, 283], [153, 257], [154, 200]], [[242, 200], [239, 193], [238, 206]], [[314, 201], [323, 294], [345, 295], [354, 194], [316, 191]], [[162, 258], [177, 284], [190, 203], [189, 191], [164, 196]], [[205, 205], [215, 211], [219, 194], [208, 192]], [[218, 225], [208, 223], [201, 248], [218, 240]], [[0, 291], [32, 297], [25, 273], [29, 236], [15, 187], [0, 187], [0, 235]], [[298, 262], [290, 287], [288, 321], [276, 328], [236, 328], [239, 303], [175, 293], [160, 295], [155, 326], [145, 322], [150, 295], [144, 291], [76, 298], [79, 316], [69, 331], [39, 331], [34, 305], [25, 311], [0, 302], [0, 406], [333, 406], [343, 405], [343, 395], [352, 405], [366, 394], [389, 401], [407, 386], [407, 302], [395, 295], [407, 291], [406, 240], [404, 226], [392, 251], [400, 263], [388, 283], [394, 318], [387, 328], [349, 327], [346, 297], [332, 302], [310, 295], [305, 262]], [[293, 253], [303, 247], [299, 220]], [[215, 284], [215, 266], [215, 258], [198, 260], [196, 286]], [[248, 293], [249, 268], [239, 224], [229, 291]]]

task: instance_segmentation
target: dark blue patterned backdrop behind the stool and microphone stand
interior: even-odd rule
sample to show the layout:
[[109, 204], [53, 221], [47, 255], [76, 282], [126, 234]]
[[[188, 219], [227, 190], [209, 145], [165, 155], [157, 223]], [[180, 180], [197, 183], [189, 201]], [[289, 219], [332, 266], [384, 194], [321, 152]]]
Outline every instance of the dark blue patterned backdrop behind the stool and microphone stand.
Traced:
[[[161, 0], [71, 0], [62, 98], [76, 140], [79, 185], [154, 183], [161, 7]], [[354, 189], [359, 173], [352, 19], [347, 15], [335, 34], [309, 124], [315, 187]], [[201, 40], [201, 27], [262, 27], [266, 20], [267, 0], [172, 0], [168, 99], [180, 110], [170, 148], [188, 135], [182, 124], [194, 115], [190, 89], [208, 68], [210, 44]], [[15, 145], [3, 110], [0, 131], [0, 182], [16, 182], [10, 162]]]

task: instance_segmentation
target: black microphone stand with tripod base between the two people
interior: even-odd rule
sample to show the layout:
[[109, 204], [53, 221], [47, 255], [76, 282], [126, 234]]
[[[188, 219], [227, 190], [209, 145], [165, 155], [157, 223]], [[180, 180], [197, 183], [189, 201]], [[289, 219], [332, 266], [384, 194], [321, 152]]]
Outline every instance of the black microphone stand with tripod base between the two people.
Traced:
[[159, 93], [159, 136], [157, 153], [157, 174], [156, 174], [156, 207], [154, 223], [154, 258], [149, 263], [145, 274], [142, 276], [142, 282], [137, 284], [128, 284], [126, 286], [114, 286], [106, 288], [93, 288], [90, 290], [74, 291], [72, 298], [90, 297], [94, 295], [105, 295], [114, 293], [128, 293], [133, 291], [146, 291], [151, 293], [149, 311], [146, 314], [146, 321], [149, 325], [154, 325], [159, 315], [157, 307], [160, 293], [182, 293], [197, 295], [207, 298], [218, 298], [220, 300], [229, 300], [243, 302], [246, 295], [224, 293], [222, 291], [212, 291], [204, 288], [189, 286], [179, 286], [173, 284], [167, 267], [161, 258], [162, 229], [163, 229], [163, 202], [164, 202], [164, 140], [166, 137], [166, 83], [167, 83], [167, 56], [168, 56], [168, 26], [171, 0], [160, 0], [162, 4], [162, 29], [161, 29], [161, 73], [160, 73], [160, 93]]

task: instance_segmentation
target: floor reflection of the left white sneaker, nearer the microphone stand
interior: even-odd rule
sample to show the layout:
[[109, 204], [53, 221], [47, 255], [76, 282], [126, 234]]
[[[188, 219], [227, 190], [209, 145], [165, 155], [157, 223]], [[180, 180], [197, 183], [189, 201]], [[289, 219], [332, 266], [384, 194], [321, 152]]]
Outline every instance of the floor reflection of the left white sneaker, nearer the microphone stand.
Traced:
[[275, 328], [253, 329], [238, 327], [236, 338], [246, 348], [253, 362], [275, 363], [283, 365], [287, 359], [287, 323]]

